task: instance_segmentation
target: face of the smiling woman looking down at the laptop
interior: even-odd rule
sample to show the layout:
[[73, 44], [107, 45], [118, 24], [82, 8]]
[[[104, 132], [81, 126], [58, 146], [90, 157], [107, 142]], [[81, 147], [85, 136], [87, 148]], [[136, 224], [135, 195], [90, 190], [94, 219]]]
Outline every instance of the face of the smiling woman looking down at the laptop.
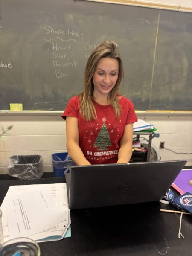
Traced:
[[115, 58], [101, 58], [93, 75], [94, 95], [108, 96], [118, 79], [119, 62]]

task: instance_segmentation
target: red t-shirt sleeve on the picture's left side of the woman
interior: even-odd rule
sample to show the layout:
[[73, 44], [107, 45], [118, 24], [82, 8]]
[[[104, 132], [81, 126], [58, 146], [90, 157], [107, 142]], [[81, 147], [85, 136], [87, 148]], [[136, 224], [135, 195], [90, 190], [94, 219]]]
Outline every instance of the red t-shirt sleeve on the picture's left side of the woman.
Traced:
[[66, 119], [66, 116], [72, 116], [72, 117], [78, 118], [78, 114], [79, 114], [78, 97], [75, 96], [71, 98], [67, 103], [67, 107], [65, 108], [65, 111], [62, 114], [62, 118]]

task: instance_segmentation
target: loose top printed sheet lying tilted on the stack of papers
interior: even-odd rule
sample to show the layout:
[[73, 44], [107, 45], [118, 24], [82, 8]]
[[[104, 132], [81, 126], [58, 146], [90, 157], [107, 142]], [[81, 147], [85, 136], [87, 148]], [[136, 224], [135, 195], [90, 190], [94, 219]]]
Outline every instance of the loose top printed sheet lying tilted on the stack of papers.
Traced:
[[63, 221], [63, 214], [47, 189], [6, 197], [10, 239], [30, 236]]

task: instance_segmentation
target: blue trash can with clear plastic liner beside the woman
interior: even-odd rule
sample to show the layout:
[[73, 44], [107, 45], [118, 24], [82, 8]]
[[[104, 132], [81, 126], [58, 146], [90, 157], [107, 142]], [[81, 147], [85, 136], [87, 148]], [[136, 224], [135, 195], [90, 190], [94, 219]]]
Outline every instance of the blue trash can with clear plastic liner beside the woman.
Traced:
[[75, 165], [73, 160], [67, 157], [67, 155], [67, 152], [52, 154], [52, 166], [55, 177], [65, 177], [65, 174], [71, 171], [71, 166]]

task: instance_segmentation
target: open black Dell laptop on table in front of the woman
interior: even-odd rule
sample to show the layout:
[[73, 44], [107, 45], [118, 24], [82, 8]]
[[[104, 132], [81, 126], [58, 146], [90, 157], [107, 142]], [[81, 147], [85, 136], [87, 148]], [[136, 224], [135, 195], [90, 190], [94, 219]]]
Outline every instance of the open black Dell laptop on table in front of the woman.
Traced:
[[69, 209], [159, 201], [186, 160], [73, 166], [66, 174]]

